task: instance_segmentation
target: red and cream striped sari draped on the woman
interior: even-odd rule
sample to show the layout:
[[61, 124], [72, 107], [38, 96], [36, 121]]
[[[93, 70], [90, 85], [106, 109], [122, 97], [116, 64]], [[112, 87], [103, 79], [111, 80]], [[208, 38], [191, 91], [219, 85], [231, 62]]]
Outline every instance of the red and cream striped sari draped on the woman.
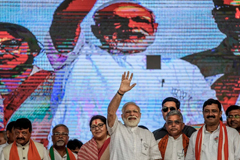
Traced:
[[85, 143], [78, 152], [78, 160], [108, 160], [110, 137], [108, 137], [101, 148], [97, 148], [97, 142], [94, 138]]

